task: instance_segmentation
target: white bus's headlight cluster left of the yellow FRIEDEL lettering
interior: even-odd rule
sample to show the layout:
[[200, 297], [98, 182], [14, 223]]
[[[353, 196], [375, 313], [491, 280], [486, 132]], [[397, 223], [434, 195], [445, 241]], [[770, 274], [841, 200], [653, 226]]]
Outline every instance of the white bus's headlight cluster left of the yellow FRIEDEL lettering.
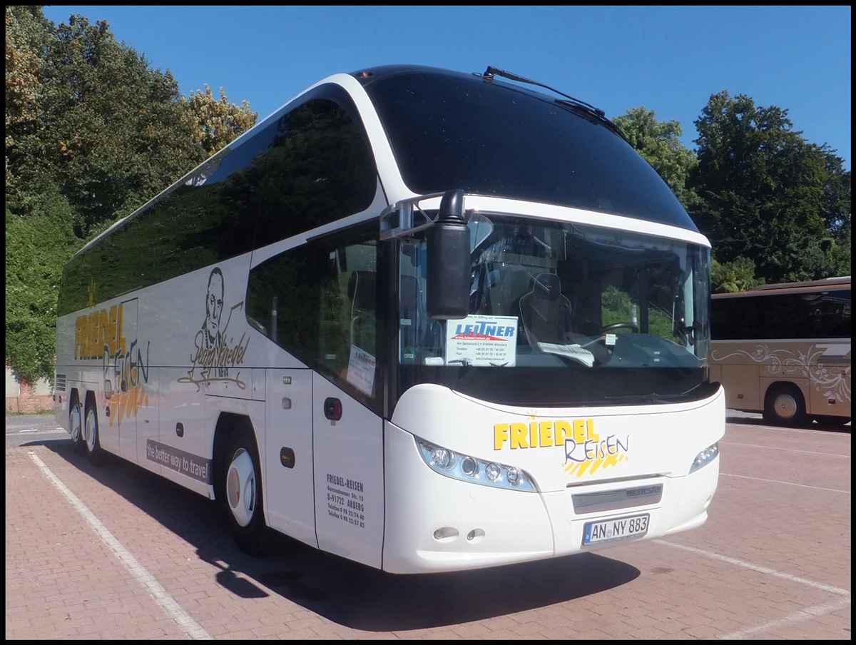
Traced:
[[473, 484], [515, 491], [534, 493], [538, 489], [535, 482], [526, 473], [514, 466], [503, 463], [487, 462], [479, 457], [461, 455], [440, 445], [431, 444], [424, 439], [416, 439], [419, 454], [434, 472], [453, 479], [469, 481]]

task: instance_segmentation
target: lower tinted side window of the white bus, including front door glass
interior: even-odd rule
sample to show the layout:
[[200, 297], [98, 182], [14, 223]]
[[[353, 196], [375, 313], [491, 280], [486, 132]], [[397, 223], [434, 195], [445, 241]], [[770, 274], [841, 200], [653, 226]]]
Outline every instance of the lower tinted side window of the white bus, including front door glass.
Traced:
[[383, 290], [377, 254], [377, 224], [370, 224], [265, 260], [250, 272], [247, 318], [379, 411]]

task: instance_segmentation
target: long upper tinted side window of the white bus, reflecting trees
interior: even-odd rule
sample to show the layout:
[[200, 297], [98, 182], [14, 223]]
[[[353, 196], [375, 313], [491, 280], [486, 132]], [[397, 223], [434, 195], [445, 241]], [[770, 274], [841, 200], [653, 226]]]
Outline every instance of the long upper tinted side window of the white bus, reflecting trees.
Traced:
[[326, 91], [342, 105], [307, 100], [75, 257], [59, 314], [86, 307], [93, 281], [103, 302], [370, 206], [377, 171], [362, 126], [341, 88]]

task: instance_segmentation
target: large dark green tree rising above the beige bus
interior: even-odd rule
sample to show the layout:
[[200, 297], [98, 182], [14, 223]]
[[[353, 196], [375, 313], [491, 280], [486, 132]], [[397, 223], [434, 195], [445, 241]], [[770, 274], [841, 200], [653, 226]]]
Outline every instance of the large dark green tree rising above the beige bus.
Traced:
[[695, 122], [698, 166], [688, 182], [703, 200], [690, 214], [716, 260], [749, 258], [768, 283], [828, 277], [830, 258], [811, 262], [811, 255], [832, 248], [821, 244], [826, 218], [836, 217], [830, 207], [841, 216], [846, 202], [849, 219], [849, 197], [831, 194], [844, 178], [830, 172], [829, 151], [806, 142], [787, 115], [742, 94], [711, 95]]

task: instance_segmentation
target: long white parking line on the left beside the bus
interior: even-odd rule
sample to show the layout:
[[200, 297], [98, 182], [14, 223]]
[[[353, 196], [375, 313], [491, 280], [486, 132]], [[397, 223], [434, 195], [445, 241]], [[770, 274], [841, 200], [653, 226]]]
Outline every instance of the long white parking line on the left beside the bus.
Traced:
[[146, 591], [149, 594], [152, 594], [152, 598], [158, 605], [163, 608], [164, 612], [175, 620], [175, 622], [181, 627], [181, 630], [190, 636], [190, 638], [199, 641], [211, 641], [214, 640], [211, 635], [208, 634], [202, 626], [197, 623], [191, 616], [181, 608], [181, 606], [175, 602], [173, 597], [169, 595], [166, 589], [164, 589], [160, 583], [149, 573], [146, 568], [137, 562], [137, 559], [128, 551], [119, 540], [110, 533], [107, 527], [98, 520], [98, 517], [89, 510], [89, 508], [78, 499], [74, 493], [72, 493], [62, 481], [59, 480], [56, 475], [51, 472], [45, 462], [43, 462], [39, 457], [33, 453], [28, 452], [30, 458], [33, 459], [33, 462], [39, 466], [42, 474], [51, 481], [51, 483], [56, 486], [60, 493], [68, 499], [72, 506], [83, 516], [83, 519], [86, 520], [86, 523], [92, 527], [92, 530], [98, 534], [102, 540], [104, 540], [104, 544], [110, 547], [110, 550], [116, 555], [116, 558], [119, 558], [119, 561], [125, 565], [130, 574], [134, 576], [140, 584], [146, 588]]

